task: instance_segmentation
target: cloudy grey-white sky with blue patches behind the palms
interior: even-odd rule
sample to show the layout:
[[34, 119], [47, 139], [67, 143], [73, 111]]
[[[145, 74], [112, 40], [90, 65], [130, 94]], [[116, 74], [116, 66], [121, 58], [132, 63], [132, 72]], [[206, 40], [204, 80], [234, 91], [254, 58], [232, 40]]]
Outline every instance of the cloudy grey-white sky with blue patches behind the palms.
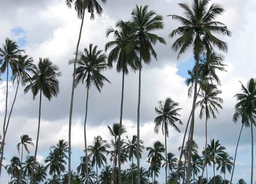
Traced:
[[[73, 57], [76, 48], [77, 38], [80, 28], [80, 20], [77, 19], [74, 9], [68, 9], [64, 0], [44, 0], [44, 1], [15, 1], [0, 0], [2, 10], [0, 13], [0, 44], [9, 37], [17, 41], [18, 46], [26, 51], [26, 54], [33, 57], [35, 63], [39, 57], [49, 57], [50, 60], [59, 66], [62, 77], [59, 77], [60, 92], [57, 98], [50, 102], [42, 98], [41, 129], [39, 136], [38, 161], [44, 162], [49, 152], [49, 148], [55, 145], [59, 139], [68, 140], [68, 116], [70, 108], [70, 94], [72, 82], [72, 66], [68, 65], [68, 60]], [[164, 142], [162, 134], [154, 133], [153, 120], [156, 117], [155, 106], [159, 100], [171, 97], [180, 103], [183, 108], [180, 112], [181, 119], [186, 122], [191, 110], [192, 100], [187, 97], [188, 87], [184, 81], [187, 77], [187, 70], [191, 69], [194, 60], [192, 51], [188, 50], [180, 60], [177, 60], [177, 53], [171, 50], [174, 39], [168, 34], [180, 24], [171, 20], [166, 15], [182, 15], [182, 9], [177, 5], [180, 2], [191, 3], [191, 0], [109, 0], [102, 5], [104, 13], [102, 17], [96, 16], [94, 21], [86, 14], [82, 38], [79, 49], [88, 47], [89, 43], [98, 45], [104, 49], [107, 41], [112, 40], [112, 36], [106, 38], [105, 32], [109, 26], [114, 27], [118, 20], [129, 20], [130, 13], [138, 5], [149, 5], [149, 9], [154, 9], [158, 14], [164, 16], [165, 27], [156, 32], [164, 37], [167, 45], [156, 44], [155, 50], [158, 54], [158, 61], [153, 59], [150, 65], [142, 69], [141, 84], [141, 139], [145, 146], [152, 146], [153, 142], [160, 140]], [[220, 2], [226, 12], [218, 18], [225, 23], [232, 32], [232, 37], [222, 37], [221, 39], [229, 44], [228, 53], [224, 53], [227, 73], [219, 72], [223, 90], [223, 110], [217, 119], [210, 119], [208, 124], [208, 140], [220, 140], [227, 152], [234, 157], [235, 146], [241, 123], [234, 124], [232, 115], [236, 103], [233, 95], [240, 91], [240, 83], [246, 83], [251, 77], [255, 77], [255, 48], [256, 48], [256, 1], [247, 0], [214, 0]], [[211, 3], [212, 3], [211, 2]], [[106, 83], [101, 93], [95, 87], [90, 89], [89, 110], [88, 110], [88, 144], [92, 143], [93, 137], [101, 135], [103, 139], [110, 140], [112, 137], [108, 133], [107, 125], [112, 125], [119, 121], [120, 98], [121, 98], [121, 74], [115, 68], [104, 73], [112, 84]], [[0, 83], [0, 119], [3, 120], [5, 112], [5, 92], [6, 77], [2, 75]], [[9, 87], [9, 107], [14, 98], [16, 84]], [[32, 94], [24, 94], [24, 87], [20, 87], [12, 113], [11, 122], [6, 137], [5, 157], [3, 164], [8, 164], [12, 156], [18, 156], [16, 149], [22, 134], [28, 134], [36, 140], [38, 123], [39, 97], [34, 101]], [[76, 170], [79, 164], [79, 157], [83, 155], [83, 121], [85, 116], [85, 86], [79, 85], [74, 93], [74, 109], [72, 121], [72, 169]], [[124, 109], [123, 124], [127, 128], [125, 135], [132, 137], [136, 134], [136, 110], [138, 98], [138, 73], [130, 71], [125, 77], [124, 86]], [[198, 117], [198, 112], [196, 112]], [[3, 121], [2, 121], [3, 122]], [[1, 126], [2, 126], [1, 122]], [[182, 143], [185, 125], [180, 126], [181, 133], [170, 128], [168, 139], [168, 152], [179, 155], [178, 147]], [[2, 133], [1, 133], [2, 134]], [[123, 136], [123, 138], [125, 138]], [[200, 152], [204, 145], [204, 120], [196, 118], [194, 139], [199, 145]], [[31, 154], [34, 147], [29, 148]], [[251, 168], [251, 139], [250, 130], [244, 129], [241, 142], [238, 148], [238, 157], [233, 182], [243, 178], [250, 181]], [[147, 152], [144, 151], [141, 163], [143, 167], [148, 167]], [[25, 156], [27, 154], [24, 154]], [[110, 164], [110, 163], [109, 163]], [[124, 164], [123, 169], [129, 167], [130, 163]], [[254, 164], [254, 170], [256, 170]], [[208, 176], [213, 175], [213, 170], [208, 169]], [[217, 172], [220, 174], [220, 172]], [[255, 175], [255, 174], [254, 174]], [[3, 170], [1, 183], [7, 183], [10, 176]], [[256, 175], [254, 176], [254, 178]], [[230, 175], [226, 174], [230, 179]], [[162, 170], [158, 181], [164, 181], [164, 170]], [[256, 182], [256, 179], [254, 179]]]

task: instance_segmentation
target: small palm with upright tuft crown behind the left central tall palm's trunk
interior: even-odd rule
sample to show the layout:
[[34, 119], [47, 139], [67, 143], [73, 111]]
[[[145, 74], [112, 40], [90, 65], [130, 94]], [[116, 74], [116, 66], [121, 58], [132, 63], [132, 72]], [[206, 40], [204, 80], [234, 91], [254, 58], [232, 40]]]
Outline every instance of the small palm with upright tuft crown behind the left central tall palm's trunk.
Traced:
[[[120, 124], [119, 123], [114, 123], [112, 125], [112, 128], [109, 127], [108, 125], [108, 130], [111, 136], [114, 137], [115, 143], [114, 143], [114, 152], [116, 152], [116, 147], [117, 147], [117, 136], [119, 134], [119, 128], [120, 128]], [[126, 133], [126, 128], [124, 126], [122, 126], [121, 128], [121, 134]], [[112, 166], [112, 175], [111, 175], [111, 184], [113, 182], [113, 176], [114, 176], [114, 168], [115, 168], [115, 163], [116, 163], [116, 157], [114, 155], [114, 160], [113, 160], [113, 166]]]

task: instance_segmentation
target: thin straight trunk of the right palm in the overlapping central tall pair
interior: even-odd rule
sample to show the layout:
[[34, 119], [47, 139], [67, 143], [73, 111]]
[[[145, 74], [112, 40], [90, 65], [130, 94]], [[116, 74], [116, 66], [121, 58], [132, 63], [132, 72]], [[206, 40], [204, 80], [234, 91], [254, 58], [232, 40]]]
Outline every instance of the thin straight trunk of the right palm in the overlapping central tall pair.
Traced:
[[[139, 93], [138, 93], [138, 109], [137, 109], [137, 168], [140, 168], [139, 166], [139, 109], [141, 105], [141, 53], [139, 53]], [[140, 169], [138, 169], [138, 179], [137, 184], [141, 183], [140, 178]]]

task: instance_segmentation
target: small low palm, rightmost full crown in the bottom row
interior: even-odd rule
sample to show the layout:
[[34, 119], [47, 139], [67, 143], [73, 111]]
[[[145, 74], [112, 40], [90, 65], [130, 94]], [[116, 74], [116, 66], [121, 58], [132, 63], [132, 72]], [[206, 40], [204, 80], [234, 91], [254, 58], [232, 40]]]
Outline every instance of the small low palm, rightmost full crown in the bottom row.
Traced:
[[229, 154], [227, 154], [226, 152], [224, 152], [221, 155], [220, 158], [220, 162], [218, 163], [217, 166], [217, 170], [220, 169], [220, 173], [224, 174], [224, 184], [226, 184], [226, 178], [225, 178], [225, 174], [226, 174], [226, 170], [231, 173], [231, 169], [233, 166], [233, 162], [232, 162], [233, 158], [229, 156]]

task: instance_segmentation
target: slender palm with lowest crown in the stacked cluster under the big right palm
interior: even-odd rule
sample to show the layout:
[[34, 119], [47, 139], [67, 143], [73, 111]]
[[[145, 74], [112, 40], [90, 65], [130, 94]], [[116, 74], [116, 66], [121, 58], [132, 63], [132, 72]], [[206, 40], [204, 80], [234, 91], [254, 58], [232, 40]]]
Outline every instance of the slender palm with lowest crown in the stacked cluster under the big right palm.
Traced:
[[[216, 85], [211, 83], [203, 83], [201, 84], [202, 92], [201, 94], [198, 94], [198, 97], [201, 98], [200, 101], [198, 101], [195, 104], [195, 107], [200, 106], [200, 114], [199, 118], [202, 119], [205, 115], [205, 147], [207, 147], [207, 122], [208, 119], [211, 117], [216, 119], [215, 112], [219, 113], [218, 108], [222, 109], [221, 103], [223, 103], [223, 100], [218, 97], [222, 92], [221, 90], [218, 90]], [[206, 158], [206, 151], [204, 152], [204, 157]], [[203, 177], [204, 173], [204, 167], [206, 166], [206, 159], [204, 159], [203, 168], [201, 177]], [[201, 181], [202, 182], [202, 181]]]

